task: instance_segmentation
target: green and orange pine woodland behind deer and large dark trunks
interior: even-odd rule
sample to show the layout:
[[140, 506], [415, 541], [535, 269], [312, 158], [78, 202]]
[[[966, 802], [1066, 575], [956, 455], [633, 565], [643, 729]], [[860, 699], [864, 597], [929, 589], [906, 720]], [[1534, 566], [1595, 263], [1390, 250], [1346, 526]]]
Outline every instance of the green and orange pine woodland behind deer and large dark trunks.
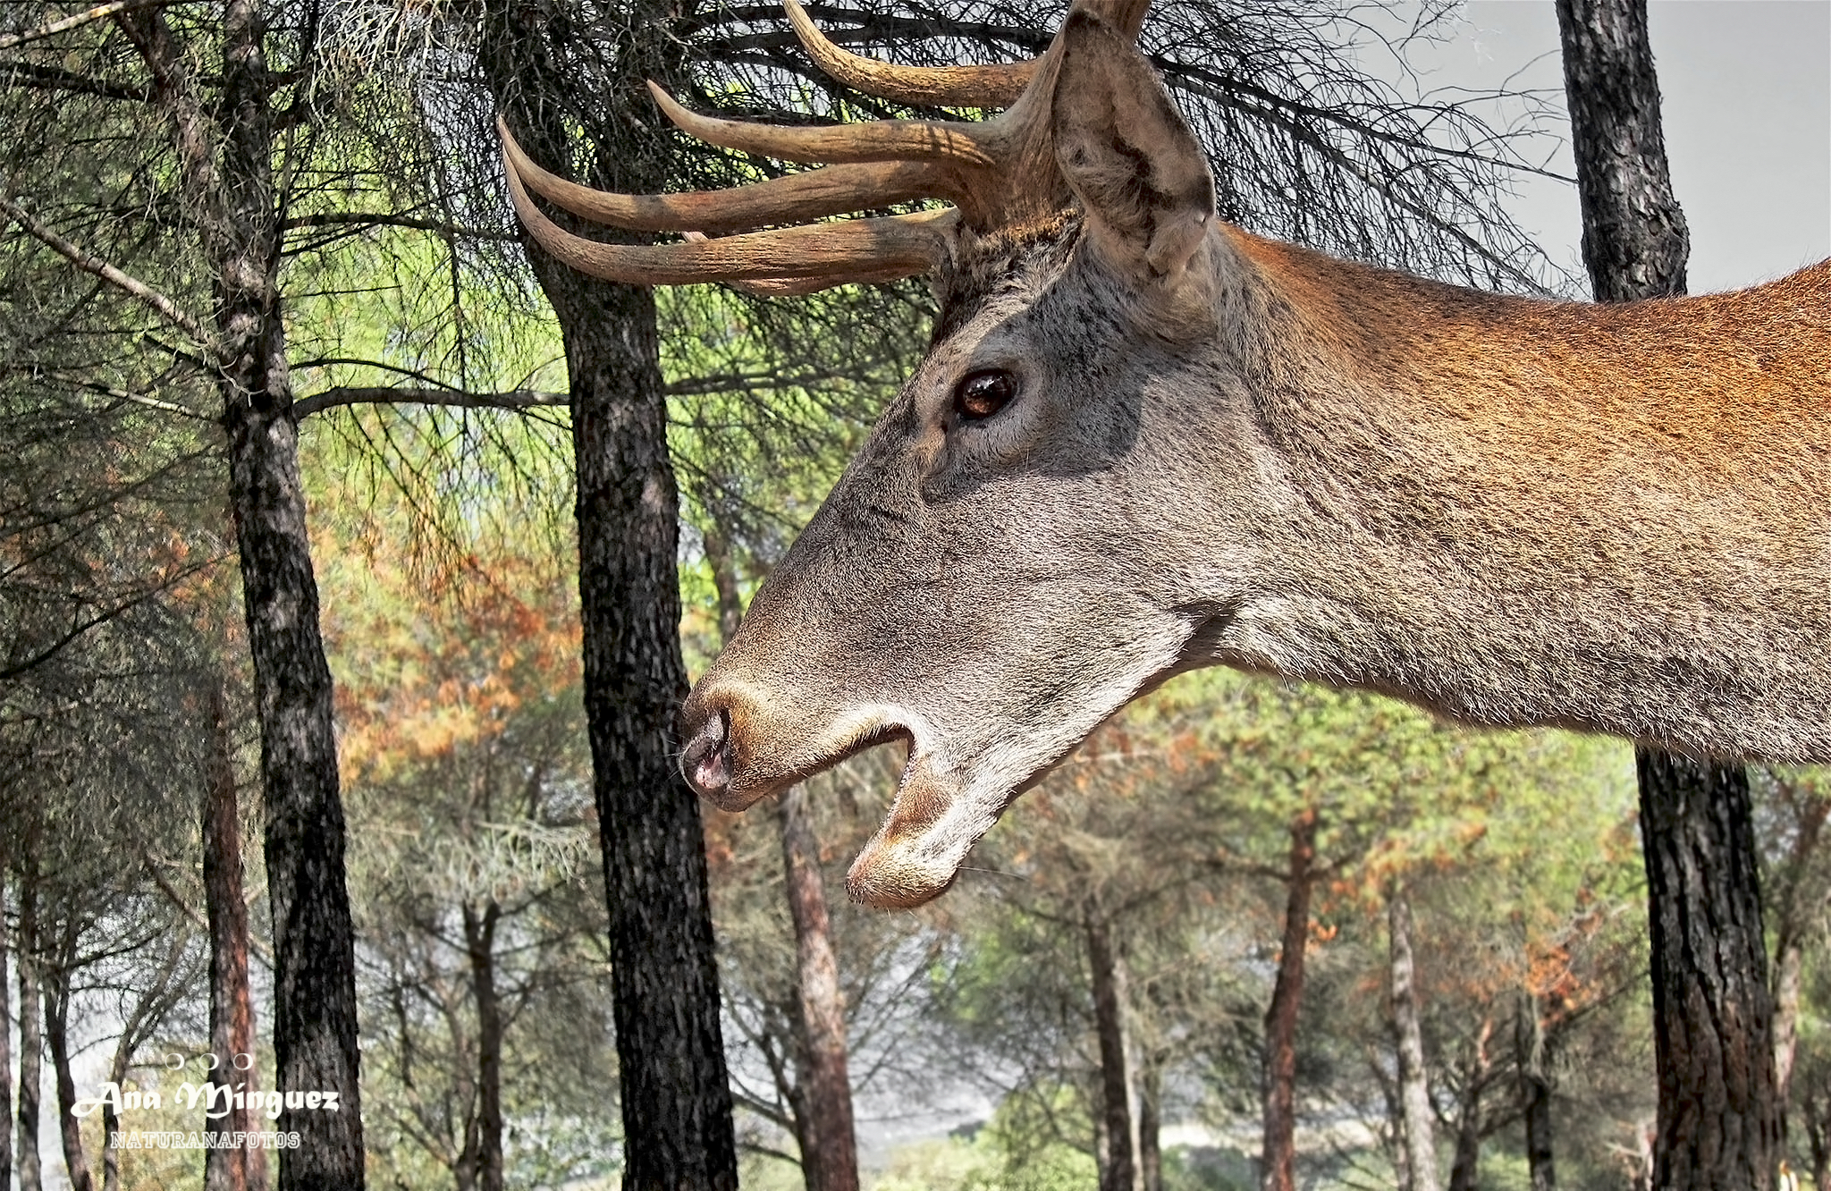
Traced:
[[[1483, 7], [1465, 16], [1479, 24]], [[176, 42], [168, 59], [150, 26], [115, 15], [148, 9]], [[1441, 57], [1457, 13], [1179, 9], [1146, 46], [1214, 150], [1229, 218], [1452, 280], [1575, 291], [1569, 253], [1542, 251], [1507, 194], [1569, 172], [1551, 147], [1555, 90], [1426, 93], [1441, 81], [1395, 66]], [[617, 44], [621, 9], [555, 11], [580, 40]], [[79, 9], [9, 4], [0, 20], [16, 130], [0, 233], [0, 984], [5, 1116], [22, 1123], [5, 1167], [22, 1191], [205, 1178], [200, 1153], [117, 1151], [103, 1114], [68, 1109], [112, 1079], [165, 1092], [130, 1127], [201, 1127], [174, 1096], [223, 1050], [209, 896], [222, 861], [200, 826], [222, 828], [205, 808], [225, 792], [240, 792], [236, 836], [267, 826], [211, 355], [227, 302], [209, 203], [170, 132], [179, 73], [200, 121], [245, 126], [223, 123], [234, 31], [209, 5], [115, 13], [53, 29]], [[690, 59], [698, 106], [883, 114], [809, 81], [776, 15], [720, 13], [694, 33], [709, 49]], [[817, 15], [916, 60], [1035, 51], [1056, 18]], [[623, 1114], [568, 370], [496, 174], [493, 18], [463, 4], [265, 13], [271, 273], [335, 676], [361, 1140], [374, 1186], [613, 1186]], [[668, 165], [676, 185], [765, 169], [685, 148]], [[1686, 200], [1683, 169], [1677, 181]], [[1732, 280], [1815, 253], [1822, 242]], [[681, 643], [698, 672], [919, 354], [926, 295], [676, 291], [657, 295], [657, 326]], [[800, 806], [828, 889], [883, 812], [892, 764], [864, 757], [809, 782]], [[1827, 793], [1816, 773], [1758, 777], [1787, 1136], [1820, 1176]], [[705, 819], [743, 1186], [813, 1186], [806, 923], [784, 817]], [[245, 1000], [264, 1033], [269, 854], [236, 854]], [[866, 1186], [1104, 1186], [1119, 1153], [1139, 1186], [1251, 1186], [1280, 1090], [1274, 1004], [1289, 1008], [1284, 1092], [1306, 1186], [1415, 1186], [1408, 1004], [1445, 1182], [1529, 1186], [1545, 1169], [1533, 1114], [1566, 1186], [1644, 1167], [1644, 889], [1617, 744], [1459, 733], [1379, 700], [1201, 674], [1095, 737], [972, 863], [914, 914], [826, 903]], [[1282, 1000], [1293, 956], [1302, 997]], [[251, 1052], [255, 1072], [275, 1070], [269, 1048]]]

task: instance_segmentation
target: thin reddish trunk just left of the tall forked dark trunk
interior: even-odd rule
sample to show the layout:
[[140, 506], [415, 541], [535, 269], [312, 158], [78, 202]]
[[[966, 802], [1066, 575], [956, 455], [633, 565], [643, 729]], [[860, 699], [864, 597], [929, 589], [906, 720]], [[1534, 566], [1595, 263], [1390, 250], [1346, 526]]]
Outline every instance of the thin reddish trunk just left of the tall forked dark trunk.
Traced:
[[[222, 1081], [255, 1090], [258, 1081], [255, 1002], [247, 982], [247, 901], [242, 896], [242, 812], [222, 678], [211, 683], [209, 716], [203, 770], [203, 909], [211, 931], [211, 1050], [218, 1055]], [[220, 1125], [231, 1132], [249, 1132], [256, 1127], [256, 1114], [233, 1103]], [[112, 1162], [114, 1151], [104, 1154]], [[104, 1191], [114, 1191], [114, 1180], [106, 1173], [103, 1182]], [[203, 1153], [205, 1191], [265, 1191], [265, 1186], [267, 1158], [258, 1145]]]

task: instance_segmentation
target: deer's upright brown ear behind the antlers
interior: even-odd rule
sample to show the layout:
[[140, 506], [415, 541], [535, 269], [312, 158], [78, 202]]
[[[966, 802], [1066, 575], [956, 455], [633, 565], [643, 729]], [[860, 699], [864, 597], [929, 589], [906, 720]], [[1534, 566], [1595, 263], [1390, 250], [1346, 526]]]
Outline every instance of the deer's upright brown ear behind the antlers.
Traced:
[[1132, 42], [1077, 9], [1062, 27], [1055, 159], [1100, 253], [1139, 280], [1177, 279], [1214, 218], [1196, 134]]

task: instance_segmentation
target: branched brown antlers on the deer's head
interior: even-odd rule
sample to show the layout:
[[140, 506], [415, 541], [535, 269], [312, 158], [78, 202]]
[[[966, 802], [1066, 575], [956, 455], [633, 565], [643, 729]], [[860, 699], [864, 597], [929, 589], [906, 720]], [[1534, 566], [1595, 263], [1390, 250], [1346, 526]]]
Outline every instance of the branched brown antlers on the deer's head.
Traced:
[[[688, 112], [650, 82], [666, 117], [703, 141], [824, 163], [692, 194], [615, 194], [566, 181], [529, 159], [498, 117], [509, 198], [535, 240], [571, 268], [617, 282], [729, 280], [758, 293], [809, 293], [925, 273], [945, 255], [958, 222], [985, 231], [1058, 211], [1067, 202], [1049, 145], [1047, 108], [1060, 57], [1055, 46], [1038, 59], [1005, 66], [894, 66], [840, 49], [796, 0], [784, 5], [813, 60], [855, 90], [897, 103], [1009, 110], [983, 123], [890, 119], [778, 128]], [[1150, 0], [1080, 0], [1077, 7], [1135, 37]], [[588, 240], [555, 225], [529, 191], [597, 224], [687, 233], [688, 240], [657, 246]], [[807, 224], [917, 198], [941, 198], [956, 209]], [[804, 225], [747, 231], [791, 220]]]

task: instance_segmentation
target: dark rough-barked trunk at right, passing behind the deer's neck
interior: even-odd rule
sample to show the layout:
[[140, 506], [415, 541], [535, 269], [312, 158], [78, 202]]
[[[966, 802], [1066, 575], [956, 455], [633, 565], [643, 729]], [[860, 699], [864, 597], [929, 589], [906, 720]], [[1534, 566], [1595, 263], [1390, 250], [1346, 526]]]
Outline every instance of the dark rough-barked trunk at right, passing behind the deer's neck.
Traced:
[[[1558, 0], [1584, 264], [1598, 300], [1685, 293], [1646, 0]], [[1760, 869], [1741, 768], [1637, 749], [1653, 933], [1653, 1187], [1774, 1186], [1780, 1116]]]

